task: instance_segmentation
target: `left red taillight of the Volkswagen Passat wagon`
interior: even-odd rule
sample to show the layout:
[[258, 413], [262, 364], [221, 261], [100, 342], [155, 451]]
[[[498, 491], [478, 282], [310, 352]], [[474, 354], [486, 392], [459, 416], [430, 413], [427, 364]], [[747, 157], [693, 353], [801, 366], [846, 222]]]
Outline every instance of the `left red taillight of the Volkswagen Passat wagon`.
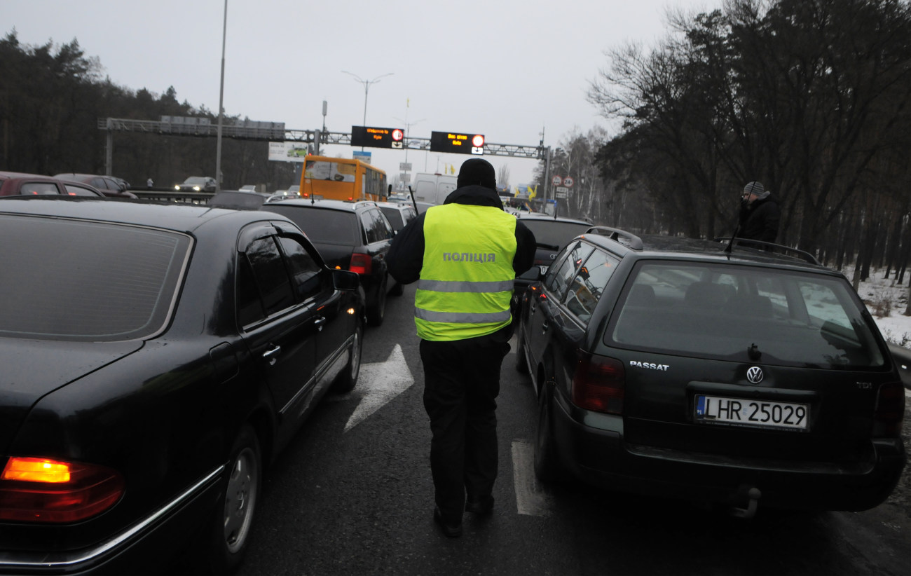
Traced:
[[623, 413], [626, 375], [623, 364], [614, 358], [579, 352], [576, 374], [572, 379], [572, 403], [580, 408]]

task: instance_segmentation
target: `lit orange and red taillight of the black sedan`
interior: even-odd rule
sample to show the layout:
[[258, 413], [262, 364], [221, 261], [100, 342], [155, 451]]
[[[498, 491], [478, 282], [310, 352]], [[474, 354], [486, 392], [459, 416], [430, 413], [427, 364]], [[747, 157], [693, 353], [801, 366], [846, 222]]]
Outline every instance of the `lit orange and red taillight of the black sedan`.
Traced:
[[114, 506], [123, 492], [123, 477], [110, 468], [12, 457], [0, 474], [0, 519], [76, 522]]

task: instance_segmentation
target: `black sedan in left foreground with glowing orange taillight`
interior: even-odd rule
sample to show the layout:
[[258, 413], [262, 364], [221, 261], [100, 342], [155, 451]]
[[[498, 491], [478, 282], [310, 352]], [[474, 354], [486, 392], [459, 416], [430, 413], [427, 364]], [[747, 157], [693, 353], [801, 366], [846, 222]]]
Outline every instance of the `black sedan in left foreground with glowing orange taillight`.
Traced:
[[236, 568], [263, 468], [356, 383], [357, 274], [265, 211], [7, 199], [0, 239], [0, 572]]

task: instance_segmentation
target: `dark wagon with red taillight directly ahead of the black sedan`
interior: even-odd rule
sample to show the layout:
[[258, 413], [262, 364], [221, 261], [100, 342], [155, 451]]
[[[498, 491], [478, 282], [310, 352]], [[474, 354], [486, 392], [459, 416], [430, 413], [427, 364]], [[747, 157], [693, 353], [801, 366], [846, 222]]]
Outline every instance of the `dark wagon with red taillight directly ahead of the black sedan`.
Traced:
[[290, 218], [331, 268], [358, 273], [367, 301], [367, 320], [383, 324], [386, 294], [400, 296], [404, 289], [387, 270], [386, 254], [395, 231], [376, 202], [284, 200], [266, 202], [260, 210]]

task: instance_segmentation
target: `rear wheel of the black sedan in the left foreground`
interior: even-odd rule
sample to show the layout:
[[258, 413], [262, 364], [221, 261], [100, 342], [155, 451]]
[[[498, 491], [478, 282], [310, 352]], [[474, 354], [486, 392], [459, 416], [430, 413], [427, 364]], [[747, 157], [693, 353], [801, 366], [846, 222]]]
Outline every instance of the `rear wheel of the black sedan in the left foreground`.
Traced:
[[262, 454], [256, 432], [241, 428], [230, 450], [224, 490], [212, 516], [210, 569], [213, 574], [235, 571], [250, 544], [251, 528], [262, 486]]

